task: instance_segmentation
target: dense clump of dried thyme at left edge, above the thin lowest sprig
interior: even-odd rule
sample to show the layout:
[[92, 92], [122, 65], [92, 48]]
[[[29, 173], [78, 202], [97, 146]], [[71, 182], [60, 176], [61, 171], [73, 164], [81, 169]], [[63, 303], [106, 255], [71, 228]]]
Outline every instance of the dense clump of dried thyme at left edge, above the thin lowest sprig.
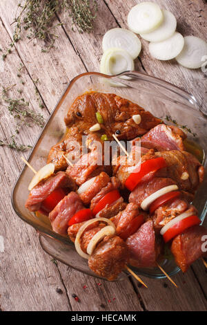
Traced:
[[32, 124], [37, 124], [40, 127], [43, 127], [45, 122], [43, 115], [30, 109], [29, 102], [26, 102], [23, 97], [19, 99], [11, 98], [8, 95], [10, 89], [11, 87], [3, 87], [1, 98], [7, 104], [8, 111], [14, 116], [14, 119], [17, 122], [16, 133], [19, 133], [22, 126], [31, 127]]

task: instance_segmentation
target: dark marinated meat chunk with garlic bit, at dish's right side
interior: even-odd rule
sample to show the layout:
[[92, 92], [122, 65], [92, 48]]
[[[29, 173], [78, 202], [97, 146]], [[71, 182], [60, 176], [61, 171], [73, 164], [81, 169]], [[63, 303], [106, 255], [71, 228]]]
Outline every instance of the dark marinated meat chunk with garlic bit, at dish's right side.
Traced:
[[172, 178], [184, 191], [195, 192], [204, 178], [204, 167], [195, 156], [179, 150], [156, 152], [155, 156], [163, 157], [167, 164], [157, 176]]

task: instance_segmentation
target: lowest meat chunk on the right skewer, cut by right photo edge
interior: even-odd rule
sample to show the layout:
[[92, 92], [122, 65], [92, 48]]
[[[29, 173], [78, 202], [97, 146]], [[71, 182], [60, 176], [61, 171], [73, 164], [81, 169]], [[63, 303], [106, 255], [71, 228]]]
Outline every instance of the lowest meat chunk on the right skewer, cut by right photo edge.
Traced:
[[201, 250], [206, 240], [203, 236], [207, 238], [207, 229], [202, 225], [194, 225], [172, 240], [171, 252], [182, 272], [186, 272], [190, 264], [200, 257], [207, 257], [207, 252]]

